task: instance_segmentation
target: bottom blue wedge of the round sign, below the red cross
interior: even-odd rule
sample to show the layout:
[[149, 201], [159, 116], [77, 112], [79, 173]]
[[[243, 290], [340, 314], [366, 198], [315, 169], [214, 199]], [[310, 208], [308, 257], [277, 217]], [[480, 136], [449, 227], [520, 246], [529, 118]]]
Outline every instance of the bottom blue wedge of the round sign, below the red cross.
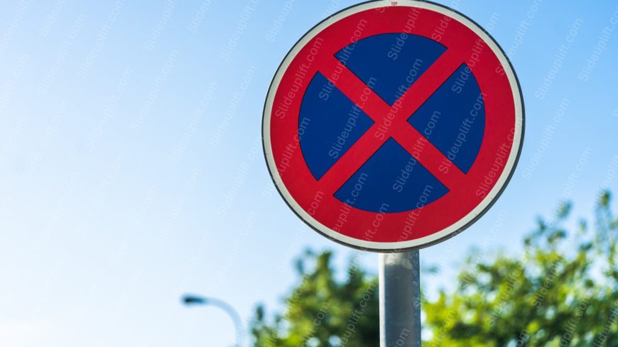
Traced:
[[420, 208], [446, 193], [447, 187], [389, 138], [335, 197], [364, 211], [394, 213]]

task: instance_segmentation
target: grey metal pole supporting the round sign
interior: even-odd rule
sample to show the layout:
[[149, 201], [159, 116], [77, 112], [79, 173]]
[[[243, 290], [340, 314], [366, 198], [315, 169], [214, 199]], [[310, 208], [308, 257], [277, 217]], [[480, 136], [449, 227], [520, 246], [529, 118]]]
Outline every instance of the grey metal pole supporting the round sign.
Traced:
[[421, 347], [418, 250], [381, 253], [380, 347]]

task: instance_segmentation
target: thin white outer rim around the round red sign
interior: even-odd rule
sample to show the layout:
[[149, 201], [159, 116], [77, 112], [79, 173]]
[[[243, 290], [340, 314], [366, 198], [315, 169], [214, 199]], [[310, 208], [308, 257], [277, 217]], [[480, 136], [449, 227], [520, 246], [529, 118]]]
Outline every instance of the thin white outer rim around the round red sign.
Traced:
[[[493, 53], [498, 57], [500, 63], [504, 67], [504, 72], [509, 78], [509, 84], [511, 84], [511, 90], [513, 91], [513, 99], [515, 106], [515, 131], [514, 131], [514, 139], [511, 153], [509, 155], [508, 160], [506, 160], [506, 165], [504, 166], [504, 170], [502, 171], [502, 175], [500, 175], [494, 187], [487, 193], [486, 197], [482, 199], [482, 201], [472, 209], [466, 216], [462, 217], [459, 221], [451, 224], [447, 228], [444, 228], [441, 231], [437, 231], [431, 235], [424, 236], [422, 238], [416, 238], [414, 240], [409, 241], [399, 241], [399, 242], [375, 242], [375, 241], [365, 241], [358, 238], [352, 238], [349, 236], [345, 236], [337, 231], [333, 231], [327, 226], [320, 223], [320, 221], [316, 220], [308, 214], [300, 205], [296, 202], [296, 200], [292, 197], [285, 184], [283, 184], [283, 180], [281, 180], [281, 176], [278, 173], [276, 163], [274, 162], [272, 147], [271, 147], [271, 133], [270, 133], [270, 123], [271, 123], [271, 114], [273, 109], [273, 99], [276, 94], [276, 91], [281, 82], [281, 78], [283, 77], [283, 73], [286, 72], [292, 60], [298, 55], [300, 50], [305, 47], [307, 43], [312, 40], [315, 35], [318, 35], [322, 30], [330, 26], [332, 23], [340, 21], [342, 18], [346, 18], [347, 16], [352, 16], [355, 13], [359, 13], [362, 11], [366, 11], [368, 9], [376, 9], [384, 6], [409, 6], [409, 7], [418, 7], [421, 9], [428, 9], [430, 11], [435, 11], [438, 13], [442, 13], [446, 16], [450, 16], [451, 18], [455, 18], [457, 21], [462, 23], [463, 25], [470, 28], [470, 30], [474, 31], [479, 38], [482, 38], [485, 43], [492, 49]], [[339, 11], [329, 18], [326, 18], [324, 21], [321, 21], [316, 26], [314, 26], [308, 33], [303, 35], [300, 40], [293, 46], [288, 55], [283, 59], [281, 65], [279, 65], [275, 76], [273, 77], [273, 81], [271, 82], [271, 86], [269, 87], [269, 92], [266, 96], [266, 103], [264, 104], [264, 117], [262, 121], [262, 131], [263, 131], [263, 141], [264, 141], [264, 155], [266, 158], [266, 165], [269, 167], [269, 171], [273, 182], [275, 183], [279, 193], [286, 201], [288, 206], [302, 219], [306, 224], [311, 226], [322, 233], [322, 235], [330, 238], [333, 241], [343, 243], [346, 246], [350, 246], [352, 248], [358, 248], [361, 250], [372, 250], [376, 252], [396, 252], [401, 250], [412, 250], [425, 248], [428, 246], [432, 246], [435, 243], [439, 243], [441, 241], [445, 241], [452, 236], [457, 235], [458, 233], [464, 231], [467, 227], [474, 224], [477, 219], [479, 219], [482, 214], [491, 208], [492, 204], [496, 201], [502, 191], [508, 184], [511, 176], [516, 167], [516, 163], [519, 160], [519, 155], [521, 153], [521, 144], [523, 143], [524, 138], [524, 101], [521, 96], [521, 89], [519, 87], [519, 81], [515, 75], [511, 62], [508, 57], [504, 54], [502, 48], [499, 47], [497, 42], [492, 38], [489, 33], [484, 31], [475, 21], [467, 18], [462, 13], [459, 13], [453, 9], [445, 7], [440, 4], [434, 4], [428, 1], [416, 1], [416, 0], [403, 0], [397, 1], [396, 5], [392, 5], [391, 1], [369, 1], [362, 4], [357, 4], [347, 9], [343, 9]]]

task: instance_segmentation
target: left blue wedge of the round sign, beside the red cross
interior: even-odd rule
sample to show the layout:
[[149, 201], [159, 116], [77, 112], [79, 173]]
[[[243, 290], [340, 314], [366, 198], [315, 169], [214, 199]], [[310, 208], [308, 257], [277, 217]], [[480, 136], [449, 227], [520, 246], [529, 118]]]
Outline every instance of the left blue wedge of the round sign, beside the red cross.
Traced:
[[300, 104], [300, 148], [316, 180], [372, 126], [367, 114], [320, 72], [316, 73]]

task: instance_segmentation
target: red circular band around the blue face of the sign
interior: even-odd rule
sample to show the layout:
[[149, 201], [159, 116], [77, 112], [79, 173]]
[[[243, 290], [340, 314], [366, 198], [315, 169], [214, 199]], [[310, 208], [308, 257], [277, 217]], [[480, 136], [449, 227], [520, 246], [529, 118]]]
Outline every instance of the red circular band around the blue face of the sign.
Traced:
[[[402, 25], [408, 21], [409, 13], [413, 9], [418, 11], [416, 26], [410, 28], [410, 26]], [[423, 206], [422, 209], [412, 210], [417, 211], [416, 216], [413, 217], [413, 232], [403, 240], [401, 239], [402, 230], [406, 224], [411, 224], [411, 211], [376, 214], [355, 209], [327, 195], [322, 195], [318, 201], [316, 196], [318, 182], [308, 170], [298, 143], [298, 115], [305, 89], [296, 92], [293, 98], [290, 98], [289, 93], [296, 89], [293, 86], [295, 80], [298, 82], [297, 72], [301, 69], [300, 65], [305, 64], [306, 67], [306, 63], [311, 62], [308, 69], [303, 68], [307, 70], [306, 77], [303, 78], [306, 88], [310, 79], [318, 72], [318, 66], [323, 59], [331, 57], [352, 43], [351, 35], [361, 20], [366, 21], [366, 26], [362, 34], [357, 36], [358, 40], [382, 33], [409, 33], [432, 38], [432, 34], [436, 33], [436, 28], [440, 28], [445, 21], [448, 22], [446, 34], [441, 35], [440, 40], [436, 41], [445, 45], [448, 50], [458, 50], [462, 56], [470, 57], [464, 61], [470, 62], [468, 66], [476, 77], [481, 91], [485, 94], [483, 142], [475, 163], [466, 174], [466, 182], [454, 189], [450, 187], [450, 192], [445, 196]], [[454, 33], [456, 35], [453, 35]], [[315, 45], [316, 40], [321, 40], [317, 55], [315, 54], [315, 48], [318, 47]], [[477, 40], [482, 39], [474, 31], [443, 13], [410, 6], [387, 6], [361, 11], [342, 18], [322, 30], [303, 48], [300, 48], [281, 77], [273, 99], [273, 109], [271, 109], [273, 114], [270, 123], [273, 160], [283, 184], [286, 185], [286, 189], [298, 205], [324, 226], [342, 235], [372, 242], [410, 241], [429, 236], [455, 224], [475, 209], [484, 199], [484, 195], [479, 194], [480, 187], [487, 184], [487, 180], [492, 181], [489, 182], [488, 188], [484, 189], [486, 194], [489, 193], [502, 175], [506, 160], [514, 150], [513, 134], [516, 124], [514, 93], [509, 84], [509, 78], [504, 73], [505, 67], [487, 43], [484, 43], [484, 49], [479, 53], [477, 62], [473, 66], [471, 64], [472, 47]], [[286, 115], [276, 116], [274, 114], [276, 107], [290, 99], [291, 103], [288, 102]], [[296, 145], [296, 150], [292, 153], [290, 145]], [[499, 165], [496, 162], [497, 153], [503, 153], [504, 146], [508, 147], [508, 151], [502, 160], [502, 165]], [[282, 163], [286, 165], [280, 166]], [[284, 169], [280, 170], [281, 167]], [[317, 208], [315, 208], [316, 202]], [[347, 211], [347, 221], [341, 228], [335, 228], [335, 223], [344, 210]], [[378, 228], [376, 228], [376, 220], [379, 221]], [[367, 231], [374, 232], [367, 233]]]

